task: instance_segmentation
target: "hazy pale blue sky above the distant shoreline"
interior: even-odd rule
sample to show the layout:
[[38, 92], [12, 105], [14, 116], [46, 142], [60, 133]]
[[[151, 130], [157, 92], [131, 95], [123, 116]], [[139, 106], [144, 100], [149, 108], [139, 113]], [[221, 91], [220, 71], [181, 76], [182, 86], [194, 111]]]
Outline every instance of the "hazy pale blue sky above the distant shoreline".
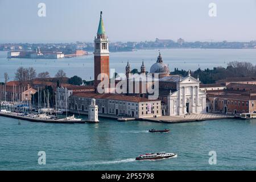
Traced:
[[93, 42], [100, 11], [111, 42], [256, 40], [256, 0], [0, 0], [0, 43]]

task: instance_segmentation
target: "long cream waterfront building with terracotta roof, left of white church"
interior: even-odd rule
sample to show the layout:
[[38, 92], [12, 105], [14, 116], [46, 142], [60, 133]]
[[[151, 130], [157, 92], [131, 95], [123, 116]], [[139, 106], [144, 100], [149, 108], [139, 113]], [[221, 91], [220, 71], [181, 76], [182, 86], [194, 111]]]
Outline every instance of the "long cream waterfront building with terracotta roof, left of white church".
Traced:
[[161, 101], [121, 94], [97, 94], [76, 92], [69, 97], [68, 109], [88, 113], [92, 98], [98, 105], [98, 113], [135, 118], [158, 117], [161, 114]]

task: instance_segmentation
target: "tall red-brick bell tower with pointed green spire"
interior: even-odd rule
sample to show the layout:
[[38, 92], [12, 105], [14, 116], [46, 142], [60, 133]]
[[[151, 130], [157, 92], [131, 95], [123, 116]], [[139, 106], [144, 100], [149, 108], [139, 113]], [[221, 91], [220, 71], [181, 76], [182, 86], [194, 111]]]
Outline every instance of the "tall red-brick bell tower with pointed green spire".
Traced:
[[[96, 91], [98, 84], [104, 80], [104, 74], [101, 73], [105, 73], [105, 76], [108, 76], [109, 82], [109, 39], [106, 36], [102, 11], [97, 36], [94, 39], [94, 87]], [[97, 78], [100, 74], [100, 80], [98, 80]]]

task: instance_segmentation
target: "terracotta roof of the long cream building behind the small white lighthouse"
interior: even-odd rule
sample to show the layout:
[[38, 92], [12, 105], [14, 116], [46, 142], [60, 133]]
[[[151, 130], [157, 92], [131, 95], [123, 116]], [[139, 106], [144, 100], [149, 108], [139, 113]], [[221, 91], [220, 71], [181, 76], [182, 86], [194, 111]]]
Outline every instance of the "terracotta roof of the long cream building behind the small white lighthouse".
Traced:
[[148, 98], [144, 98], [144, 97], [125, 96], [122, 94], [112, 94], [112, 93], [97, 94], [97, 93], [89, 93], [89, 92], [77, 92], [77, 93], [73, 93], [73, 96], [88, 97], [88, 98], [102, 98], [102, 99], [109, 99], [109, 100], [131, 101], [131, 102], [156, 101], [156, 100], [149, 100]]

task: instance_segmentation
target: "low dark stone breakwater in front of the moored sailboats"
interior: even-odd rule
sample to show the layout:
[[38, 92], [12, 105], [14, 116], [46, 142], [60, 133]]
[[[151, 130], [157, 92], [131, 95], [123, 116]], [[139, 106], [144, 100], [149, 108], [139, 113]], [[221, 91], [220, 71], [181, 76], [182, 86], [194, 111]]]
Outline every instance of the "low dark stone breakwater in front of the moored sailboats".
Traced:
[[39, 118], [30, 118], [22, 115], [15, 115], [11, 113], [0, 113], [0, 116], [2, 117], [8, 117], [8, 118], [15, 118], [15, 119], [21, 119], [26, 120], [30, 122], [40, 122], [40, 123], [64, 123], [64, 124], [75, 124], [75, 123], [85, 123], [86, 121], [57, 121], [54, 119], [39, 119]]

